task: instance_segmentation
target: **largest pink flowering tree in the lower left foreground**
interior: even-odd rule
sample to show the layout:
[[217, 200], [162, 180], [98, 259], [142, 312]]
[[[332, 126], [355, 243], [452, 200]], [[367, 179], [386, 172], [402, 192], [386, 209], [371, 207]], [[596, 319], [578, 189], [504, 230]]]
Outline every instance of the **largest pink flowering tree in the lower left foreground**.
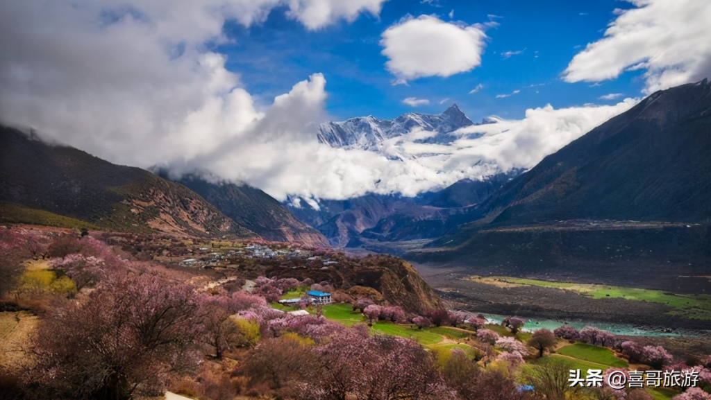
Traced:
[[53, 398], [162, 394], [169, 374], [198, 363], [197, 308], [190, 286], [149, 274], [109, 276], [84, 303], [65, 303], [41, 320], [33, 376]]

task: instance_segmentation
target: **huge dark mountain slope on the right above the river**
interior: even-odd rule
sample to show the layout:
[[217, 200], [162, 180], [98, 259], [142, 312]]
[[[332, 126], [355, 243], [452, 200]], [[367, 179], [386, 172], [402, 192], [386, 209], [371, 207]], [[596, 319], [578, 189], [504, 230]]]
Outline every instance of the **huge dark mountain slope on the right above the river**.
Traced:
[[711, 84], [651, 94], [476, 208], [481, 219], [407, 256], [476, 273], [711, 290]]

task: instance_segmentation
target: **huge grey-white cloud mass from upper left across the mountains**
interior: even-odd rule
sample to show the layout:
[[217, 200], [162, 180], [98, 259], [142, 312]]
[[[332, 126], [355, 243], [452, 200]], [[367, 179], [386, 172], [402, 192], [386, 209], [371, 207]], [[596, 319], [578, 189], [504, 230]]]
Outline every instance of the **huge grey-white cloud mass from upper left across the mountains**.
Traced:
[[[387, 143], [402, 160], [330, 148], [315, 134], [316, 123], [327, 118], [323, 75], [264, 104], [225, 69], [225, 55], [204, 45], [221, 40], [225, 18], [257, 23], [279, 5], [291, 10], [290, 18], [316, 25], [355, 15], [329, 9], [328, 1], [294, 1], [6, 1], [0, 6], [0, 121], [33, 126], [114, 163], [211, 171], [279, 200], [287, 194], [343, 199], [415, 195], [528, 168], [630, 105], [532, 109], [520, 121], [480, 126], [478, 139], [461, 132], [449, 146], [417, 143], [432, 133], [412, 132]], [[324, 6], [327, 17], [311, 19], [309, 4]]]

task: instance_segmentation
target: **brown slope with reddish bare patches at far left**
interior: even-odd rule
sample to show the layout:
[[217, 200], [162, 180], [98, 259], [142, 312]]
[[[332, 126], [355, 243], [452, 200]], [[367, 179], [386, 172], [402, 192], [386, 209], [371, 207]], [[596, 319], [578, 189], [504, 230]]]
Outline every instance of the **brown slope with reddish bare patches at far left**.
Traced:
[[183, 185], [6, 127], [0, 127], [0, 209], [6, 222], [256, 236]]

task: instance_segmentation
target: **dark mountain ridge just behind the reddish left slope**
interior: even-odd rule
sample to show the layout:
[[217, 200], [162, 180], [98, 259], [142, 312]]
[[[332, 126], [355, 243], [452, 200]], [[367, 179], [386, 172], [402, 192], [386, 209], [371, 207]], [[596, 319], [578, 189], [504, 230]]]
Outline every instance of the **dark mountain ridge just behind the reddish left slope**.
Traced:
[[298, 220], [287, 207], [260, 189], [228, 182], [210, 183], [195, 174], [185, 175], [176, 182], [264, 239], [328, 247], [328, 239], [321, 232]]

